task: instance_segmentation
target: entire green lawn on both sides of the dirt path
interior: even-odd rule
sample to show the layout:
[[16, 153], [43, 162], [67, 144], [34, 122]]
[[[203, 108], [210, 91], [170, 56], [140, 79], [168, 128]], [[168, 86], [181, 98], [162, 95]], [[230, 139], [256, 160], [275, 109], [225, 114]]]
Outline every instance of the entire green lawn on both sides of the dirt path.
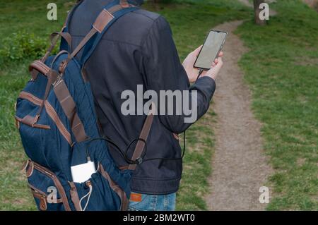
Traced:
[[[50, 32], [59, 30], [72, 2], [55, 2], [59, 20], [48, 21], [48, 1], [0, 0], [0, 49], [4, 47], [1, 44], [16, 39], [14, 33], [34, 34], [35, 39], [44, 39]], [[213, 26], [252, 15], [251, 9], [233, 0], [184, 2], [145, 6], [163, 14], [170, 22], [181, 59], [204, 41]], [[250, 49], [240, 66], [252, 90], [254, 114], [263, 124], [264, 148], [275, 169], [270, 179], [275, 197], [268, 209], [317, 210], [318, 14], [296, 0], [280, 0], [272, 6], [278, 15], [269, 20], [269, 25], [257, 27], [247, 20], [237, 30]], [[27, 68], [32, 60], [0, 64], [1, 210], [35, 209], [25, 176], [20, 172], [25, 154], [13, 121], [13, 104], [30, 78]], [[206, 178], [211, 173], [213, 154], [211, 123], [213, 112], [209, 111], [187, 131], [177, 209], [206, 209]]]

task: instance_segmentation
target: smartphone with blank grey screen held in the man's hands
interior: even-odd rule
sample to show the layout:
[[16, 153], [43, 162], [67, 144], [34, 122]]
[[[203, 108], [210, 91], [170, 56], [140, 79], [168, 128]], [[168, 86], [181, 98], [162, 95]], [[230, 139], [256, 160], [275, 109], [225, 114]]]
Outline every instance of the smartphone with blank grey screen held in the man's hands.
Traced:
[[206, 37], [203, 47], [196, 58], [194, 68], [201, 68], [204, 70], [211, 69], [214, 59], [222, 50], [228, 32], [220, 30], [211, 30]]

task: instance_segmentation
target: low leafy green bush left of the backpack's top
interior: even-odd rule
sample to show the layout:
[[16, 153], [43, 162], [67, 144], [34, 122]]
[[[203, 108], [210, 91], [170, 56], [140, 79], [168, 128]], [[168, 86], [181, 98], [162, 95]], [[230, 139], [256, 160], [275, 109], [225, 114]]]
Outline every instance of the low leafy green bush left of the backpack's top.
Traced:
[[27, 32], [13, 33], [6, 37], [0, 46], [0, 62], [21, 61], [23, 59], [40, 59], [44, 56], [49, 42]]

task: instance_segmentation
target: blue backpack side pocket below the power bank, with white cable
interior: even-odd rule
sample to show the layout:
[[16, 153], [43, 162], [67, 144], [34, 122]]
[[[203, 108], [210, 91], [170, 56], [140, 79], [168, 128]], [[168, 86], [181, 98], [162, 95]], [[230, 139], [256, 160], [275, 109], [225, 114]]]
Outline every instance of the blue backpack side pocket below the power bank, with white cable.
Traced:
[[70, 182], [70, 185], [71, 200], [77, 210], [124, 211], [128, 207], [126, 193], [112, 180], [102, 164], [98, 164], [97, 172], [88, 181]]

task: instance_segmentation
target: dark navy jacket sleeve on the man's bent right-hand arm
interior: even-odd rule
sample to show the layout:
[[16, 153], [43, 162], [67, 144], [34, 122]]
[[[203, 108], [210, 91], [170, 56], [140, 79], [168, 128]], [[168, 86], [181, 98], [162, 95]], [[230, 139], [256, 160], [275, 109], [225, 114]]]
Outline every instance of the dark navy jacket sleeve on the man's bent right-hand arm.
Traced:
[[[206, 113], [216, 83], [212, 78], [202, 77], [190, 86], [172, 39], [170, 25], [161, 16], [153, 22], [141, 51], [141, 73], [146, 78], [146, 89], [157, 93], [160, 122], [171, 132], [182, 133]], [[181, 91], [179, 93], [182, 93], [182, 101], [176, 101], [175, 98], [171, 104], [160, 94], [160, 90], [173, 92], [176, 96], [178, 94], [175, 91]], [[183, 110], [184, 107], [187, 109], [187, 105], [188, 109], [193, 107], [190, 114], [189, 110]], [[181, 112], [178, 110], [180, 108]]]

